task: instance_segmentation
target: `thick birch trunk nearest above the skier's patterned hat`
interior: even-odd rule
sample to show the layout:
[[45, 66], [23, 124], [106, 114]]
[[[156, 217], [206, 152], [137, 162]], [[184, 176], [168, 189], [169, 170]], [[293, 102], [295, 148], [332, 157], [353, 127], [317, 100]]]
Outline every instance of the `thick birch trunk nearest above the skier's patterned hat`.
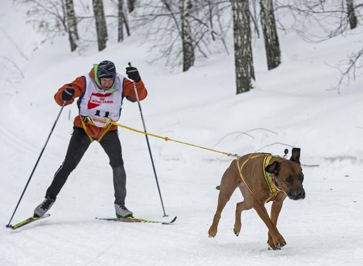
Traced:
[[97, 41], [99, 45], [99, 51], [102, 51], [104, 48], [106, 48], [106, 41], [107, 41], [107, 27], [103, 12], [103, 2], [102, 0], [92, 0], [92, 2], [93, 2], [93, 12], [95, 14], [95, 20], [96, 20], [96, 31], [97, 31]]

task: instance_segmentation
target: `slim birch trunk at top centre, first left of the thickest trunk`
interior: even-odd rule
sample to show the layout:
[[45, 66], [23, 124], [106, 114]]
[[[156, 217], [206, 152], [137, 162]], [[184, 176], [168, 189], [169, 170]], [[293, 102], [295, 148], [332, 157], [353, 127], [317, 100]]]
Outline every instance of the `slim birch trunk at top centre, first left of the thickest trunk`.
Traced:
[[194, 46], [192, 38], [192, 30], [189, 22], [190, 0], [181, 0], [181, 38], [183, 46], [183, 72], [187, 71], [194, 65]]

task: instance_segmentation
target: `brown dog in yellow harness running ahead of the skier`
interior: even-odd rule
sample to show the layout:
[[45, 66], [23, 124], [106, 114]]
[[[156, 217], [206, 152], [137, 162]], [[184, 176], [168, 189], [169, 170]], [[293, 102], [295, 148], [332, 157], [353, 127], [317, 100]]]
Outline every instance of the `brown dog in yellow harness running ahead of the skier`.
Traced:
[[[305, 198], [303, 179], [299, 148], [293, 148], [290, 160], [268, 153], [252, 153], [233, 160], [217, 187], [220, 189], [218, 206], [208, 231], [209, 237], [217, 234], [221, 212], [233, 191], [239, 187], [243, 201], [236, 206], [235, 235], [238, 236], [241, 231], [241, 212], [254, 208], [268, 228], [268, 246], [272, 249], [285, 246], [286, 241], [276, 228], [277, 218], [286, 196], [294, 200]], [[271, 218], [264, 207], [268, 201], [273, 201]]]

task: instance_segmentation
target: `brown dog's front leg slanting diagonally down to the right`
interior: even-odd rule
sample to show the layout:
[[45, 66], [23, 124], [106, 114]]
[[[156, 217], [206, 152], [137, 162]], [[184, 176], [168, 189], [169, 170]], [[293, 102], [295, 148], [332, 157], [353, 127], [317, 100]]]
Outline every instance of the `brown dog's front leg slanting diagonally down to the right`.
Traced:
[[267, 226], [268, 234], [271, 235], [271, 242], [269, 242], [268, 245], [272, 249], [280, 249], [281, 247], [285, 246], [286, 241], [284, 237], [282, 237], [282, 235], [278, 232], [276, 225], [271, 221], [270, 217], [268, 216], [267, 210], [264, 207], [264, 203], [255, 204], [253, 207]]

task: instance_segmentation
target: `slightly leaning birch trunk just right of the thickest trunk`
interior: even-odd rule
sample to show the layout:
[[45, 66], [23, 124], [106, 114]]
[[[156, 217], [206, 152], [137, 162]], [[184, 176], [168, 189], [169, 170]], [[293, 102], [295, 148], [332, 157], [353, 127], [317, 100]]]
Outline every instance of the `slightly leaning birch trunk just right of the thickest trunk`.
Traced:
[[276, 31], [272, 0], [260, 0], [261, 26], [264, 32], [264, 47], [268, 70], [281, 64], [280, 44]]

